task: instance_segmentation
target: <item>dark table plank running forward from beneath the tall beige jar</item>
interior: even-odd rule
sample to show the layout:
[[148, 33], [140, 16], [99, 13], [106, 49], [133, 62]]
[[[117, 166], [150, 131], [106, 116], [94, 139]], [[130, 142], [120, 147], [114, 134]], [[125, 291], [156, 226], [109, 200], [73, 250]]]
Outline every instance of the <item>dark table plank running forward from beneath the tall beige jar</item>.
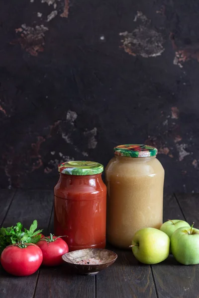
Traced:
[[119, 250], [110, 245], [107, 248], [118, 257], [112, 266], [96, 276], [97, 298], [156, 298], [150, 266], [139, 263], [131, 250]]

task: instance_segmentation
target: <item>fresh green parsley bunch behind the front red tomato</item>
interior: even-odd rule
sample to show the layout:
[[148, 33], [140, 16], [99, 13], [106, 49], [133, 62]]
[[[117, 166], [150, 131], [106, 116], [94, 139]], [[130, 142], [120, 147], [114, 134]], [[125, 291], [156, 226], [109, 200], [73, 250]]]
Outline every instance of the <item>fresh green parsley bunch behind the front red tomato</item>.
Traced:
[[23, 243], [37, 243], [41, 239], [39, 233], [42, 229], [37, 229], [37, 221], [35, 220], [31, 225], [29, 230], [23, 228], [21, 223], [17, 223], [14, 226], [1, 227], [0, 228], [0, 254], [3, 249], [10, 245], [23, 241]]

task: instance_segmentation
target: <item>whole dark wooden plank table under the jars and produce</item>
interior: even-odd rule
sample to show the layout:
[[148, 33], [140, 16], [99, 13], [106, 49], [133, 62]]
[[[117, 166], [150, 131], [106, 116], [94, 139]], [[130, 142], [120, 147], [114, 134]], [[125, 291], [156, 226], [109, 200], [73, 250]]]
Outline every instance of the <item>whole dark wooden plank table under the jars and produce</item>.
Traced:
[[[195, 221], [199, 228], [199, 194], [165, 196], [168, 218]], [[44, 234], [53, 230], [52, 191], [0, 191], [0, 224], [29, 226], [34, 219]], [[131, 251], [113, 250], [116, 262], [96, 276], [73, 275], [63, 265], [18, 278], [0, 267], [0, 298], [199, 298], [199, 265], [180, 265], [172, 256], [142, 265]]]

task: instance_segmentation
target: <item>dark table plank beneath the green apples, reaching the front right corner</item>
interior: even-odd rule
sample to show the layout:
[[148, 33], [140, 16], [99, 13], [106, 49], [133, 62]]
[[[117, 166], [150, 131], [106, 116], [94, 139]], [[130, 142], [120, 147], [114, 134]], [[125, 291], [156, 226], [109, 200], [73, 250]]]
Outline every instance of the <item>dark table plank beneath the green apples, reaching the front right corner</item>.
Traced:
[[[167, 219], [185, 220], [173, 195], [164, 198], [164, 221]], [[170, 255], [152, 270], [159, 298], [199, 298], [199, 266], [181, 265]]]

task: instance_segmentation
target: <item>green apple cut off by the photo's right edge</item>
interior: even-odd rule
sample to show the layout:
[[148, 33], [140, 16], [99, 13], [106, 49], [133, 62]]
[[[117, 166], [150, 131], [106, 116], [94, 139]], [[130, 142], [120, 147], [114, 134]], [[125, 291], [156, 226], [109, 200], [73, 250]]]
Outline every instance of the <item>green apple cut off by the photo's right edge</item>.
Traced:
[[199, 229], [193, 225], [178, 228], [171, 236], [171, 251], [181, 264], [199, 264]]

